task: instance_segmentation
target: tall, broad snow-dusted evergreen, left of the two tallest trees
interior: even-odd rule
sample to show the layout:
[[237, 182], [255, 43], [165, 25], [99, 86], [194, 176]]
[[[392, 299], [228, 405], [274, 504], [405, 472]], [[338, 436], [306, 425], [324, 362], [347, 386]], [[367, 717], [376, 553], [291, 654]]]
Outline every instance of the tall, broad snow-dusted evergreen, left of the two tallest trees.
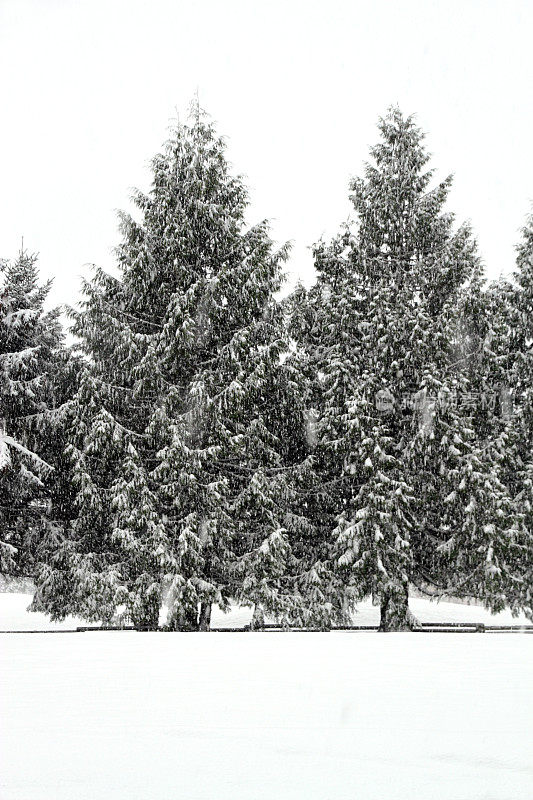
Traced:
[[38, 603], [156, 627], [164, 602], [172, 629], [207, 628], [230, 598], [257, 621], [293, 618], [287, 475], [302, 454], [284, 415], [302, 439], [304, 425], [274, 300], [287, 248], [265, 223], [246, 228], [246, 190], [199, 109], [152, 173], [138, 219], [122, 216], [119, 277], [97, 271], [76, 316], [78, 516]]

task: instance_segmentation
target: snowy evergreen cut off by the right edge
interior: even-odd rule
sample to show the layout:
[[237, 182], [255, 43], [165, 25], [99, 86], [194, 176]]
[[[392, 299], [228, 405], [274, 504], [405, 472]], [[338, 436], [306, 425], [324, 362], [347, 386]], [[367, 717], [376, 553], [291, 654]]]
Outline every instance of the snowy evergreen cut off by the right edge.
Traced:
[[[462, 478], [455, 469], [447, 473], [450, 495], [441, 525], [449, 538], [439, 548], [449, 556], [449, 593], [481, 599], [492, 611], [507, 606], [528, 615], [533, 558], [528, 522], [531, 295], [526, 227], [516, 280], [499, 280], [486, 288], [478, 281], [460, 300], [456, 359], [473, 390], [468, 424], [475, 448]], [[461, 509], [462, 530], [456, 513], [448, 518], [450, 507]]]

